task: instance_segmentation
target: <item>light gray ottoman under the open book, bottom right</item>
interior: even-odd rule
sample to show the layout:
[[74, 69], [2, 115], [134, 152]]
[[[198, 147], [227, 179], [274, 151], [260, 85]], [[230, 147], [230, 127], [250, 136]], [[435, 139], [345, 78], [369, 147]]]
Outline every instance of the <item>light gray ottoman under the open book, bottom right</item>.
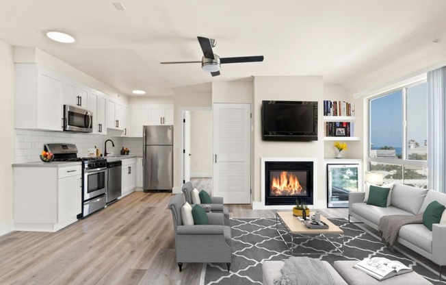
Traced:
[[421, 275], [415, 272], [404, 273], [402, 275], [397, 275], [390, 277], [389, 279], [384, 280], [376, 280], [375, 278], [367, 275], [363, 271], [359, 269], [353, 268], [354, 264], [358, 263], [358, 261], [335, 261], [336, 271], [343, 277], [343, 279], [349, 285], [423, 285], [423, 284], [432, 284], [428, 280], [425, 280]]

